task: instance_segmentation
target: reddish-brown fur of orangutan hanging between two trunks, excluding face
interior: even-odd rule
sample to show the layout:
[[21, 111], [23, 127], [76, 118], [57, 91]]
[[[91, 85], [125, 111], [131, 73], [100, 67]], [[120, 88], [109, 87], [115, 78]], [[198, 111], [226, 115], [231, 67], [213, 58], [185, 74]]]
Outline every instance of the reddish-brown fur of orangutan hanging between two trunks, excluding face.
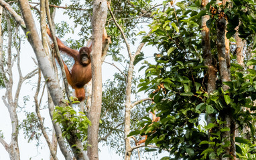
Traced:
[[[50, 32], [50, 29], [47, 27], [47, 33], [52, 39], [52, 33]], [[103, 40], [107, 38], [107, 32], [104, 29], [103, 31]], [[68, 79], [68, 83], [71, 85], [71, 87], [75, 90], [76, 97], [78, 98], [78, 101], [83, 101], [85, 97], [85, 91], [84, 91], [84, 85], [92, 79], [92, 68], [90, 63], [90, 52], [92, 49], [92, 45], [90, 44], [88, 47], [82, 47], [80, 51], [76, 51], [74, 49], [70, 49], [70, 47], [67, 47], [56, 37], [58, 48], [60, 51], [64, 51], [68, 55], [72, 56], [74, 58], [74, 65], [69, 71], [67, 65], [64, 63], [64, 69], [66, 73], [66, 77]], [[80, 55], [81, 53], [85, 51], [86, 54], [88, 54], [88, 64], [82, 65]]]

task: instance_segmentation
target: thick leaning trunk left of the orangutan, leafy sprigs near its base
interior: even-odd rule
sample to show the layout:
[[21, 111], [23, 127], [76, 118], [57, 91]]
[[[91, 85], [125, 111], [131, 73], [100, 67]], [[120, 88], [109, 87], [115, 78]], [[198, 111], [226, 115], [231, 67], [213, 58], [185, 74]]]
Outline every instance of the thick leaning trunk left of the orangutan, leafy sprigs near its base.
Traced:
[[[28, 33], [27, 36], [29, 43], [31, 43], [31, 46], [34, 49], [34, 52], [38, 59], [38, 65], [46, 79], [48, 91], [50, 92], [54, 105], [64, 106], [66, 104], [62, 102], [63, 98], [62, 94], [60, 94], [62, 93], [62, 90], [60, 89], [60, 85], [58, 84], [58, 79], [55, 78], [52, 66], [50, 65], [50, 61], [46, 56], [42, 41], [39, 38], [38, 31], [36, 30], [36, 25], [29, 7], [29, 3], [27, 0], [20, 0], [19, 4], [21, 6], [21, 12], [25, 21], [25, 29], [27, 29], [25, 30], [25, 33]], [[68, 139], [68, 143], [70, 144], [70, 147], [74, 145], [72, 146], [72, 151], [77, 160], [86, 159], [84, 147], [74, 133], [70, 134], [70, 139]], [[68, 156], [65, 157], [66, 159], [71, 159], [69, 154], [66, 156]]]

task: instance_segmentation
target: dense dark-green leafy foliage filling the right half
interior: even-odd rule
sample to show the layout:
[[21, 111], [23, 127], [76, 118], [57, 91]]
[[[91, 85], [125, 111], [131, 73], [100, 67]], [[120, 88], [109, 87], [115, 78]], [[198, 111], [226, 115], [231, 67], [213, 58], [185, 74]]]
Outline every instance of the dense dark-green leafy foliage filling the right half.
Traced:
[[[164, 5], [168, 1], [164, 2]], [[223, 91], [222, 82], [216, 81], [216, 91], [206, 92], [206, 66], [202, 58], [201, 19], [203, 15], [210, 15], [207, 22], [210, 27], [210, 41], [212, 56], [218, 59], [216, 53], [216, 20], [218, 13], [210, 13], [210, 5], [217, 11], [227, 15], [227, 37], [232, 37], [235, 27], [239, 27], [239, 33], [247, 40], [247, 54], [254, 53], [255, 48], [255, 1], [231, 1], [232, 7], [215, 5], [216, 1], [210, 1], [206, 11], [200, 10], [201, 1], [182, 1], [176, 3], [177, 9], [168, 7], [166, 11], [157, 10], [153, 13], [154, 21], [151, 23], [152, 35], [145, 37], [144, 42], [155, 45], [159, 53], [155, 54], [155, 62], [145, 61], [143, 67], [147, 67], [145, 78], [141, 79], [139, 91], [149, 93], [154, 99], [147, 110], [157, 111], [159, 122], [151, 125], [147, 119], [140, 123], [145, 127], [140, 131], [141, 135], [148, 135], [146, 145], [155, 143], [160, 149], [170, 151], [171, 157], [163, 159], [209, 159], [216, 158], [224, 153], [230, 142], [223, 143], [225, 139], [222, 133], [230, 131], [223, 127], [227, 123], [222, 121], [223, 113], [231, 113], [237, 124], [237, 129], [249, 126], [251, 140], [255, 137], [254, 103], [256, 96], [256, 72], [254, 69], [245, 69], [237, 65], [235, 55], [231, 55], [231, 81]], [[232, 46], [231, 46], [232, 49]], [[252, 52], [250, 52], [252, 51]], [[231, 53], [232, 54], [232, 53]], [[256, 65], [254, 57], [247, 63]], [[219, 79], [219, 73], [217, 75]], [[210, 123], [204, 127], [200, 125], [200, 115], [214, 114], [216, 123]], [[202, 121], [201, 121], [202, 122]], [[207, 131], [214, 129], [212, 137], [208, 140]], [[136, 132], [135, 132], [136, 133]], [[241, 137], [243, 139], [243, 137]], [[254, 141], [254, 140], [253, 140]], [[247, 143], [245, 139], [239, 143]], [[210, 147], [208, 147], [210, 145]], [[213, 147], [212, 147], [213, 146]], [[238, 147], [237, 147], [238, 148]], [[161, 150], [160, 150], [161, 151]], [[237, 151], [240, 155], [243, 153]], [[238, 156], [239, 156], [238, 154]], [[227, 155], [224, 155], [227, 156]]]

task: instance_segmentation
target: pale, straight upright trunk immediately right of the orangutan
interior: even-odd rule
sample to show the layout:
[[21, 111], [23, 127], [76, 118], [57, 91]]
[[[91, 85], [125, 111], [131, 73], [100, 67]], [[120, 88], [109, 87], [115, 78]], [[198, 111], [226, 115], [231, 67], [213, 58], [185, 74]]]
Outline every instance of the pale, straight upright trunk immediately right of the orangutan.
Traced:
[[90, 53], [92, 61], [92, 107], [88, 116], [92, 122], [92, 125], [88, 127], [88, 144], [90, 145], [88, 146], [88, 157], [90, 160], [99, 159], [98, 137], [102, 102], [101, 55], [106, 19], [107, 1], [95, 0], [92, 11], [92, 53]]

